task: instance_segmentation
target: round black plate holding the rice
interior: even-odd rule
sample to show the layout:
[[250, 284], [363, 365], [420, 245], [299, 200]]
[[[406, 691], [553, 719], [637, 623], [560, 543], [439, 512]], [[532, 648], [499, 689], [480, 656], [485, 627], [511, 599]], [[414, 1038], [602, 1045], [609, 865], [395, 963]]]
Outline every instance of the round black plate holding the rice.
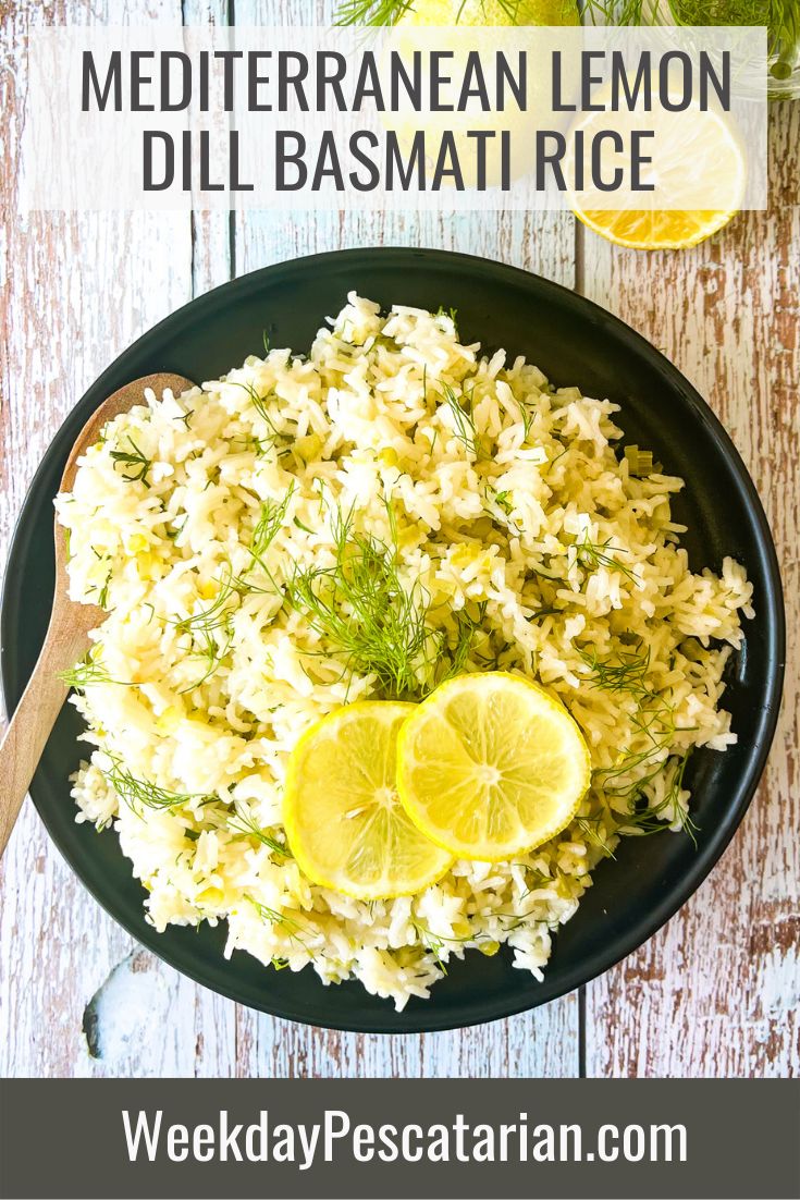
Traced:
[[[688, 526], [693, 569], [732, 554], [754, 586], [756, 619], [732, 662], [724, 703], [738, 744], [699, 751], [688, 785], [700, 826], [698, 848], [669, 833], [628, 840], [603, 863], [577, 916], [558, 934], [545, 982], [511, 967], [505, 954], [468, 953], [428, 1001], [403, 1013], [361, 984], [324, 988], [311, 967], [276, 972], [237, 952], [222, 956], [225, 931], [203, 925], [156, 934], [144, 893], [116, 836], [74, 823], [67, 776], [82, 757], [80, 722], [67, 706], [31, 786], [52, 838], [90, 892], [134, 937], [179, 971], [252, 1008], [313, 1025], [365, 1032], [444, 1030], [523, 1012], [606, 971], [650, 937], [685, 902], [728, 844], [762, 774], [780, 704], [784, 619], [775, 548], [758, 496], [727, 433], [693, 388], [644, 338], [572, 292], [535, 275], [464, 254], [431, 250], [353, 250], [270, 266], [217, 288], [136, 342], [89, 389], [59, 431], [34, 479], [17, 527], [2, 596], [2, 683], [19, 701], [44, 635], [53, 595], [53, 497], [70, 446], [89, 414], [116, 388], [151, 371], [211, 379], [272, 346], [307, 350], [347, 293], [383, 305], [458, 310], [468, 341], [525, 354], [557, 384], [621, 403], [626, 439], [652, 449], [687, 480], [675, 502]], [[710, 901], [710, 895], [706, 896]]]

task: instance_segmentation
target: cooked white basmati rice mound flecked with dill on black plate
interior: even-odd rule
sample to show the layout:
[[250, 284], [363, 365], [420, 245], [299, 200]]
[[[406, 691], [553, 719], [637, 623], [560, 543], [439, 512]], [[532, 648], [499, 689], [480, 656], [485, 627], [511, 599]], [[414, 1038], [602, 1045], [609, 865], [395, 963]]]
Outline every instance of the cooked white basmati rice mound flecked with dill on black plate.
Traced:
[[[71, 595], [108, 611], [76, 672], [96, 749], [73, 796], [78, 821], [114, 824], [157, 930], [227, 919], [228, 954], [356, 977], [401, 1009], [471, 948], [507, 943], [541, 978], [619, 836], [686, 829], [686, 756], [735, 742], [718, 706], [751, 586], [732, 559], [721, 576], [688, 570], [669, 505], [682, 482], [620, 445], [615, 404], [481, 356], [441, 312], [381, 317], [353, 294], [330, 324], [307, 359], [270, 350], [149, 395], [58, 499]], [[579, 817], [547, 845], [372, 904], [311, 884], [281, 852], [297, 738], [377, 694], [375, 673], [284, 599], [297, 572], [335, 565], [348, 516], [353, 536], [396, 547], [435, 626], [417, 695], [471, 628], [459, 670], [540, 680], [594, 768]], [[275, 535], [257, 560], [259, 522]]]

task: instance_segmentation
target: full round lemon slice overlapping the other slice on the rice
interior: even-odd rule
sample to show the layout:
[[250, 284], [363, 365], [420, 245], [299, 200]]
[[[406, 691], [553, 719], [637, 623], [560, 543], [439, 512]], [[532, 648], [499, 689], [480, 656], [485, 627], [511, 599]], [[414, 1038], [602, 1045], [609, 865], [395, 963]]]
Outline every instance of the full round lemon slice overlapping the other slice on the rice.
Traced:
[[461, 676], [410, 714], [398, 742], [405, 811], [459, 858], [500, 862], [564, 829], [589, 786], [567, 710], [505, 672]]

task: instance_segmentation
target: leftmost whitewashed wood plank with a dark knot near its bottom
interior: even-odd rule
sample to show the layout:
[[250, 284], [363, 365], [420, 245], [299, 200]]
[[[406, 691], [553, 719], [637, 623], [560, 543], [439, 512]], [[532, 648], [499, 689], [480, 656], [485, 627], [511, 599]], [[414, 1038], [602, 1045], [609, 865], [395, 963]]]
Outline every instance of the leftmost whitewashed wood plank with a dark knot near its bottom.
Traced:
[[[178, 0], [133, 2], [128, 22], [180, 20]], [[16, 209], [26, 29], [110, 23], [113, 6], [70, 0], [2, 10], [0, 194]], [[222, 236], [224, 234], [224, 236]], [[37, 215], [0, 233], [4, 354], [0, 362], [2, 492], [7, 546], [25, 488], [61, 420], [136, 336], [228, 274], [227, 217]], [[150, 955], [118, 971], [100, 1030], [107, 1058], [89, 1056], [84, 1009], [134, 944], [61, 862], [26, 803], [0, 869], [0, 1075], [227, 1074], [235, 1057], [233, 1006]], [[160, 1020], [154, 1020], [158, 1014]]]

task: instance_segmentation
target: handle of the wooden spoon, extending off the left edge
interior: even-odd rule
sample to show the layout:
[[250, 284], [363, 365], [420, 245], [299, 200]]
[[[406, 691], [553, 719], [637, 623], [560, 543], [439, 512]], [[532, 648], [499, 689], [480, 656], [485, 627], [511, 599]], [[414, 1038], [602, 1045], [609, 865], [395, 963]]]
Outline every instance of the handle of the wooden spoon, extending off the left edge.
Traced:
[[89, 649], [84, 620], [74, 617], [76, 606], [54, 611], [34, 673], [11, 718], [0, 744], [0, 858], [34, 778], [36, 766], [64, 707], [68, 688], [59, 674], [74, 666]]

